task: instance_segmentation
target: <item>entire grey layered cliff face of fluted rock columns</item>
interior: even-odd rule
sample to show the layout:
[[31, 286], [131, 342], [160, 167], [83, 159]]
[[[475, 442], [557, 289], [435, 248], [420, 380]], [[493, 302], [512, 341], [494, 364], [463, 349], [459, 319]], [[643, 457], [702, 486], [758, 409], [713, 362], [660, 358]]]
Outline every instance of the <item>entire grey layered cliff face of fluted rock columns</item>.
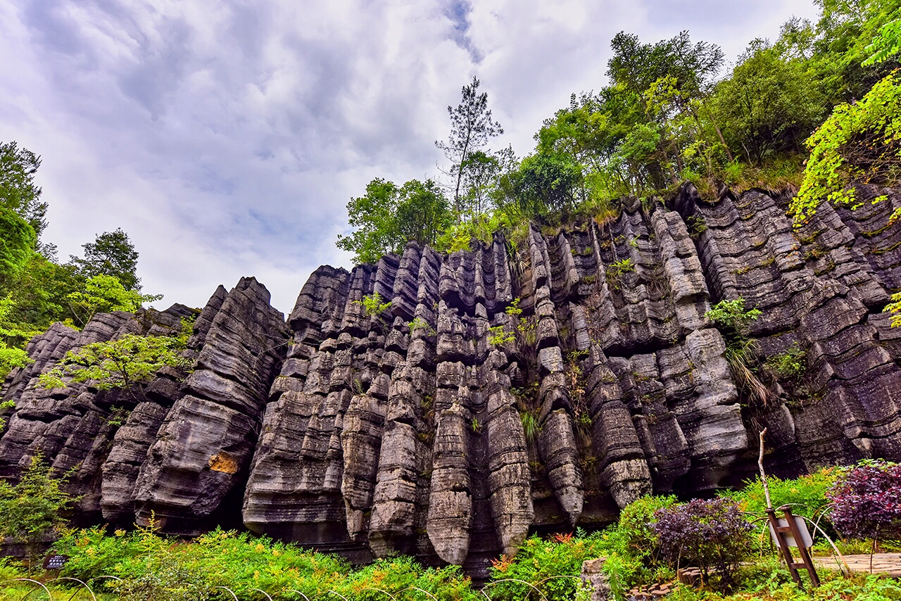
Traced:
[[[33, 378], [88, 341], [177, 328], [187, 309], [56, 325], [4, 385], [16, 406], [0, 473], [40, 450], [80, 466], [86, 521], [243, 523], [355, 560], [405, 552], [478, 572], [534, 530], [740, 484], [764, 426], [783, 476], [901, 460], [901, 329], [880, 313], [901, 288], [901, 223], [888, 224], [901, 195], [823, 206], [800, 229], [785, 202], [707, 203], [686, 187], [604, 225], [532, 229], [518, 249], [411, 244], [350, 273], [317, 269], [287, 324], [242, 279], [197, 318], [196, 369], [140, 394]], [[374, 294], [383, 314], [362, 303]], [[763, 396], [733, 378], [705, 317], [739, 297], [762, 312], [762, 357], [805, 353], [803, 376], [761, 375]]]

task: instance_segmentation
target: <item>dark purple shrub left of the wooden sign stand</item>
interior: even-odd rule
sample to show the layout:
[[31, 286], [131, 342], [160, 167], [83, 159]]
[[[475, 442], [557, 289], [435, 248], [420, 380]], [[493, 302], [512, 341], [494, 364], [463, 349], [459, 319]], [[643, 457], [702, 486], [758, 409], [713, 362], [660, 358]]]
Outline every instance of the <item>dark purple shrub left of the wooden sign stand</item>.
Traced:
[[661, 555], [671, 564], [696, 564], [709, 582], [716, 569], [724, 585], [734, 583], [740, 562], [751, 545], [751, 524], [739, 506], [725, 498], [695, 499], [683, 505], [658, 509], [651, 527]]

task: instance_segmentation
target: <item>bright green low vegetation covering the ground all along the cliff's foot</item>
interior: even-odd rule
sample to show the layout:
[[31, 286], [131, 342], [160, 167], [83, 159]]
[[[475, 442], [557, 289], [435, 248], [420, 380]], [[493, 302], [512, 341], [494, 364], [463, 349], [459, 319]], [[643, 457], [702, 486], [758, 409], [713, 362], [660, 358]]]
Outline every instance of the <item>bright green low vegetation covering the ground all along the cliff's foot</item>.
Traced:
[[[826, 490], [841, 469], [822, 469], [795, 479], [770, 478], [774, 505], [793, 504], [795, 514], [816, 517], [826, 508]], [[751, 480], [741, 490], [726, 491], [748, 519], [760, 514], [765, 505], [759, 480]], [[523, 601], [540, 598], [532, 587], [541, 590], [547, 601], [586, 599], [578, 575], [582, 562], [604, 556], [605, 573], [619, 601], [627, 598], [632, 587], [656, 582], [672, 582], [676, 566], [661, 559], [656, 534], [651, 525], [655, 511], [677, 503], [673, 496], [642, 497], [629, 505], [619, 524], [603, 531], [533, 535], [514, 558], [502, 556], [490, 568], [485, 592], [490, 601]], [[760, 525], [760, 524], [757, 524]], [[827, 526], [828, 529], [828, 526]], [[759, 529], [758, 529], [759, 530]], [[752, 536], [758, 540], [756, 534]], [[837, 571], [820, 570], [823, 586], [799, 589], [791, 581], [769, 542], [748, 545], [749, 557], [732, 587], [724, 587], [712, 578], [712, 586], [675, 585], [667, 597], [674, 601], [901, 601], [896, 580], [878, 576], [854, 575], [843, 578]], [[842, 553], [869, 552], [870, 542], [837, 540]], [[87, 591], [60, 586], [53, 578], [79, 578], [91, 583], [97, 599], [112, 601], [296, 601], [307, 596], [324, 601], [344, 596], [354, 601], [376, 601], [393, 596], [397, 601], [432, 598], [417, 592], [422, 589], [439, 601], [474, 601], [485, 597], [460, 568], [424, 568], [410, 557], [377, 560], [353, 569], [340, 557], [308, 551], [294, 544], [275, 542], [249, 533], [216, 530], [186, 542], [159, 536], [152, 528], [132, 532], [107, 533], [104, 528], [72, 531], [54, 551], [69, 556], [64, 569], [40, 573], [34, 578], [46, 583], [54, 599], [88, 598]], [[822, 542], [815, 553], [830, 550]], [[123, 578], [98, 578], [112, 575]], [[0, 601], [43, 599], [46, 593], [36, 584], [10, 581], [24, 578], [24, 569], [11, 560], [0, 561]], [[75, 585], [74, 581], [69, 584]], [[296, 592], [296, 591], [299, 591]], [[333, 591], [333, 592], [330, 592]], [[338, 596], [335, 596], [338, 595]]]

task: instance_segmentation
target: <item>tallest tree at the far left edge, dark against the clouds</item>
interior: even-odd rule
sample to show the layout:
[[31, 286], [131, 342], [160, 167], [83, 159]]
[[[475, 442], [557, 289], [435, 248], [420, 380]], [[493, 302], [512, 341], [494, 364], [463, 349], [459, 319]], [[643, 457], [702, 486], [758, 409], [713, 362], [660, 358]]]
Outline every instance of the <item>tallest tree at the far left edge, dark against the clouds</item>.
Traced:
[[0, 205], [14, 211], [32, 226], [35, 238], [47, 225], [47, 203], [41, 202], [41, 188], [34, 185], [34, 174], [41, 157], [20, 149], [12, 142], [0, 142]]

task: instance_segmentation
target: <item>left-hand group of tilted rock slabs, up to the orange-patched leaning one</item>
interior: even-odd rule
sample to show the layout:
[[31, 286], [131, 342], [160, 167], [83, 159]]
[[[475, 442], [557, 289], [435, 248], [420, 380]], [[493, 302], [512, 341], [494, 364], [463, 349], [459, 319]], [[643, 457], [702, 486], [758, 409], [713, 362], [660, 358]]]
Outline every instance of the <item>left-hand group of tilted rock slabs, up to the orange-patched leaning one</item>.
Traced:
[[[287, 346], [284, 317], [253, 278], [219, 287], [199, 312], [97, 314], [81, 332], [60, 324], [31, 341], [34, 363], [6, 379], [14, 413], [0, 438], [0, 473], [13, 476], [41, 454], [75, 468], [77, 520], [129, 525], [150, 514], [172, 533], [241, 524], [240, 499], [268, 386]], [[37, 376], [67, 351], [125, 333], [171, 335], [195, 316], [185, 351], [195, 368], [164, 368], [146, 387], [98, 391], [85, 384], [46, 390]]]

